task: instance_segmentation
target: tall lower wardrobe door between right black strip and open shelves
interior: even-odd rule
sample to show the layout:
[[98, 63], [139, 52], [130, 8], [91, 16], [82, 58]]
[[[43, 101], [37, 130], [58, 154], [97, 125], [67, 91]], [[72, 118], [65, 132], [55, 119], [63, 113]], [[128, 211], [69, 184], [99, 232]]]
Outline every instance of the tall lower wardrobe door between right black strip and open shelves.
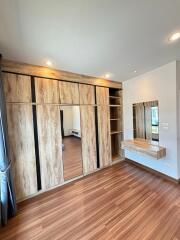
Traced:
[[98, 134], [100, 167], [111, 164], [111, 136], [109, 106], [98, 106]]

